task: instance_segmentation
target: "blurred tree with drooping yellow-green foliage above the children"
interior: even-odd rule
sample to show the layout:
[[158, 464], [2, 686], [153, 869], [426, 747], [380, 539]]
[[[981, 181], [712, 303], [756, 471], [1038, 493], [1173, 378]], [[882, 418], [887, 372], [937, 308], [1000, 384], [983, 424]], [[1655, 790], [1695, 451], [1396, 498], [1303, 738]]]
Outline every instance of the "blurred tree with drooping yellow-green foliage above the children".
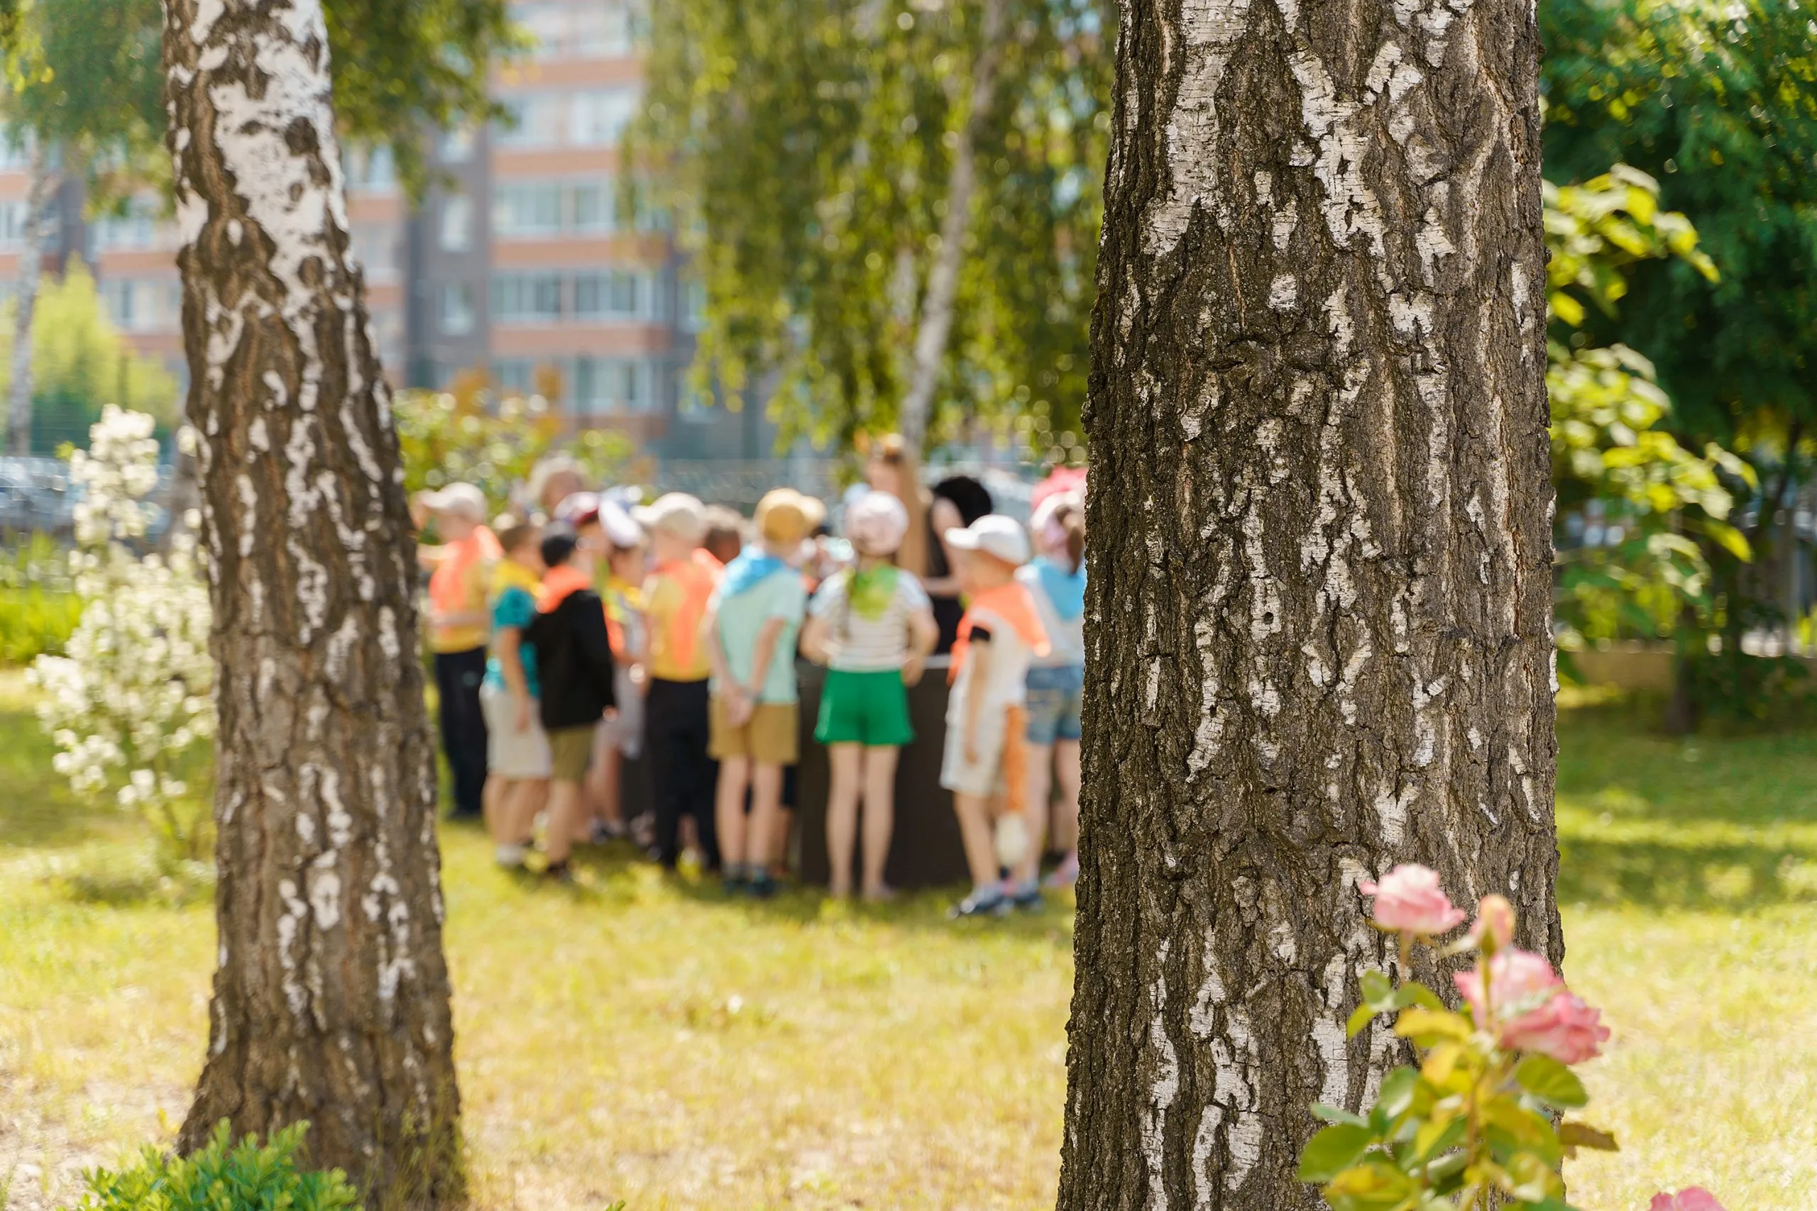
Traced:
[[[674, 0], [632, 147], [705, 289], [696, 387], [781, 441], [1077, 427], [1114, 16], [1096, 0]], [[1057, 447], [1054, 447], [1057, 450]]]

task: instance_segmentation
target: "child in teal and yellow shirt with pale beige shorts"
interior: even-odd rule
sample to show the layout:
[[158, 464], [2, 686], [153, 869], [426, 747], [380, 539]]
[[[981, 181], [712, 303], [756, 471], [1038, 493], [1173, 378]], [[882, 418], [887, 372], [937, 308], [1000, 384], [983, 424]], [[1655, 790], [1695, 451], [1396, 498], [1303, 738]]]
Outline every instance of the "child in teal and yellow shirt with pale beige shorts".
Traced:
[[492, 568], [492, 655], [480, 684], [485, 712], [485, 830], [500, 866], [523, 866], [525, 839], [549, 797], [549, 735], [536, 684], [536, 648], [523, 632], [536, 617], [543, 576], [541, 530], [498, 527], [505, 556]]

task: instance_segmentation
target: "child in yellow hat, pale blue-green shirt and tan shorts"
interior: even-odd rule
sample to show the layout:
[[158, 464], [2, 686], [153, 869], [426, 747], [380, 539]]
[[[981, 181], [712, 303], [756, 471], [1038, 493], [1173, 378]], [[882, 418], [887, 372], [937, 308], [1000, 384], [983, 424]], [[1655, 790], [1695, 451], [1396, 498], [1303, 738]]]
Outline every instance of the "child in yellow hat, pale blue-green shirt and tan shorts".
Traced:
[[756, 514], [760, 545], [727, 565], [709, 610], [710, 753], [720, 763], [720, 848], [730, 891], [761, 897], [776, 890], [769, 857], [783, 766], [794, 764], [799, 750], [794, 652], [807, 612], [807, 586], [790, 559], [821, 516], [819, 501], [792, 488], [767, 494]]

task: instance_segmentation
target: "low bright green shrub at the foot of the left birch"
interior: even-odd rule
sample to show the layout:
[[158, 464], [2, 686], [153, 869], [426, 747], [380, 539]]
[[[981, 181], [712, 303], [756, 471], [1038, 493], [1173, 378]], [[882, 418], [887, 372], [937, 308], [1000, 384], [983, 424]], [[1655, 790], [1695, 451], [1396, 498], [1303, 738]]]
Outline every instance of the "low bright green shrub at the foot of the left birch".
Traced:
[[223, 1120], [193, 1157], [145, 1147], [131, 1169], [84, 1175], [89, 1193], [74, 1211], [358, 1211], [358, 1195], [340, 1169], [300, 1171], [296, 1149], [307, 1122], [249, 1135], [234, 1144]]

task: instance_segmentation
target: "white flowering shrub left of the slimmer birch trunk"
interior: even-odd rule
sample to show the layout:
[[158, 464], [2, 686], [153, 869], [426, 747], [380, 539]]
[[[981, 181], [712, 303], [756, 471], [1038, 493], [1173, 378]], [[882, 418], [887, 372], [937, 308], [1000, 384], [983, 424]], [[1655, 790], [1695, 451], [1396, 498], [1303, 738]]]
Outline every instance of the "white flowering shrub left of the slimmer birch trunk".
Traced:
[[71, 556], [82, 621], [67, 654], [40, 655], [29, 675], [71, 790], [113, 795], [145, 815], [162, 855], [198, 861], [205, 795], [185, 772], [205, 768], [214, 735], [209, 594], [187, 537], [193, 525], [167, 556], [129, 546], [156, 517], [147, 499], [158, 487], [153, 423], [107, 405], [89, 448], [71, 458], [71, 479], [84, 488]]

